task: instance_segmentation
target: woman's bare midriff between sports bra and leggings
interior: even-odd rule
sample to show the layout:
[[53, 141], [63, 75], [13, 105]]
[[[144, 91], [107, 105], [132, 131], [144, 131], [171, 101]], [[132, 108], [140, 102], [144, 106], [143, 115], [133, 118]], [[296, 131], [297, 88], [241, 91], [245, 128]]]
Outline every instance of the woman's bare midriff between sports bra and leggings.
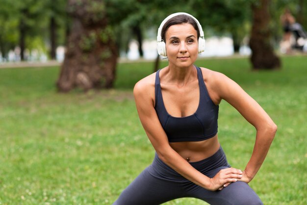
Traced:
[[220, 148], [220, 143], [216, 134], [204, 141], [170, 142], [170, 146], [188, 162], [196, 162], [215, 154]]

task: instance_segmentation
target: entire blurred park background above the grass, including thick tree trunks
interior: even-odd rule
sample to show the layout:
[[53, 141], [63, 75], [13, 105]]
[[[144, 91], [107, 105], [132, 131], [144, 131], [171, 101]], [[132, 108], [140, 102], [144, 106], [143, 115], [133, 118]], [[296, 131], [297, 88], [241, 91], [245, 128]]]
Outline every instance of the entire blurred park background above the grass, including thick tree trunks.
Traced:
[[112, 88], [118, 61], [153, 60], [156, 71], [157, 28], [175, 12], [190, 13], [203, 26], [206, 47], [200, 57], [247, 55], [253, 69], [278, 69], [275, 52], [307, 52], [306, 0], [0, 0], [0, 5], [0, 66], [61, 65], [60, 92]]

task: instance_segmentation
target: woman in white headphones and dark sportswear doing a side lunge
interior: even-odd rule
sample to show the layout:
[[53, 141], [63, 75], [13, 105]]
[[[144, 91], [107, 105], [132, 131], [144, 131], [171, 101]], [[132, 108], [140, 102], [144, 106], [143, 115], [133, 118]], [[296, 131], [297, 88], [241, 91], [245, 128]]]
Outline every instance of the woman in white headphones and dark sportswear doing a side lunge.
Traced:
[[[114, 205], [158, 205], [182, 197], [212, 205], [262, 204], [248, 183], [277, 127], [230, 78], [194, 66], [204, 50], [203, 36], [199, 22], [189, 14], [172, 14], [162, 22], [158, 52], [167, 55], [169, 65], [141, 79], [133, 90], [139, 118], [156, 154]], [[257, 130], [254, 152], [243, 171], [230, 167], [218, 141], [222, 99]]]

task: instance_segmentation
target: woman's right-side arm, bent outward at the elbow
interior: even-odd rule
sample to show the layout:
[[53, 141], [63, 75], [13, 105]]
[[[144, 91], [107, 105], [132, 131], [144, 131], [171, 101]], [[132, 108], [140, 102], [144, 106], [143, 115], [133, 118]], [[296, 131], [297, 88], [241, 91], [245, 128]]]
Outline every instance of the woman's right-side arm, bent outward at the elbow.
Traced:
[[214, 74], [218, 101], [224, 99], [236, 108], [241, 115], [256, 128], [256, 142], [251, 159], [243, 172], [243, 180], [250, 182], [256, 175], [274, 139], [277, 126], [262, 107], [237, 83], [223, 74]]

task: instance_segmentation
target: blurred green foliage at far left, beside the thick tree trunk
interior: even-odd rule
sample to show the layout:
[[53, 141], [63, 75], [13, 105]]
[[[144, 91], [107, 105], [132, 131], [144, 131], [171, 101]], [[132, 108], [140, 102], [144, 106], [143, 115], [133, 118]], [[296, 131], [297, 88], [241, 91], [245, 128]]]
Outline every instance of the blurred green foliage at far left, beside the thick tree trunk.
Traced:
[[[66, 0], [0, 0], [0, 51], [7, 58], [9, 50], [19, 45], [20, 29], [26, 30], [28, 50], [48, 49], [49, 21], [55, 17], [61, 26], [57, 33], [58, 42], [64, 43], [66, 21]], [[46, 48], [47, 47], [47, 48]]]

